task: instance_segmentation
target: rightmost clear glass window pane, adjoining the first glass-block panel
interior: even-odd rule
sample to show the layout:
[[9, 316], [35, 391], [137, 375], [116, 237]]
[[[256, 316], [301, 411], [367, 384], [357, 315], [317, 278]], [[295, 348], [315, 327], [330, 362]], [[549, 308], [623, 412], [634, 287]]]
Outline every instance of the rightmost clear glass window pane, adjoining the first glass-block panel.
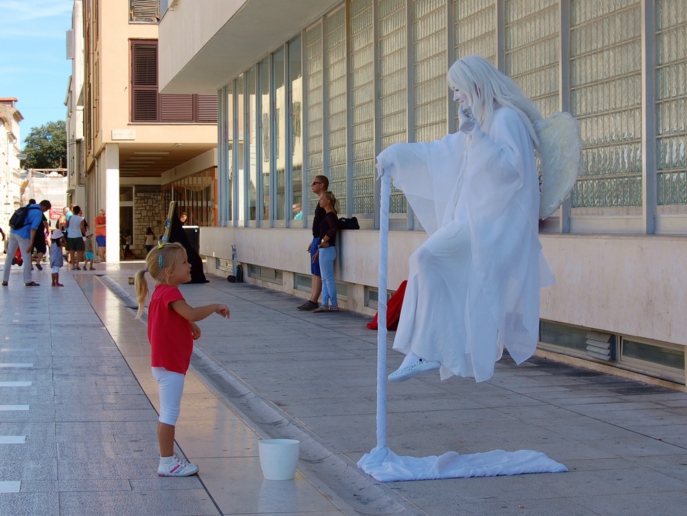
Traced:
[[289, 117], [291, 125], [291, 217], [303, 218], [303, 67], [301, 38], [289, 43]]

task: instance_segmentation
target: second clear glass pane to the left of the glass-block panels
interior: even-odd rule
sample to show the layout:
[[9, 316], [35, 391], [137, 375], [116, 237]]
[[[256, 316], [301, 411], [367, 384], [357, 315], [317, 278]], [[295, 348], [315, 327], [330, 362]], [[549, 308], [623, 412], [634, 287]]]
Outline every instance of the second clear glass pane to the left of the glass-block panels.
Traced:
[[274, 150], [277, 169], [275, 220], [285, 218], [286, 188], [286, 86], [284, 85], [284, 49], [273, 54], [274, 78]]

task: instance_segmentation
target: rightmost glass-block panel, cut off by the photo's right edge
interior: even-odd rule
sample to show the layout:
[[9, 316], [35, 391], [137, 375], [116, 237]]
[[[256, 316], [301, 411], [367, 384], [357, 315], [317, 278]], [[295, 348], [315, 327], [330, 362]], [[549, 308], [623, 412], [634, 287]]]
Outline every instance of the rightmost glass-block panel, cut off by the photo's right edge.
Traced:
[[657, 204], [687, 204], [687, 2], [656, 0]]

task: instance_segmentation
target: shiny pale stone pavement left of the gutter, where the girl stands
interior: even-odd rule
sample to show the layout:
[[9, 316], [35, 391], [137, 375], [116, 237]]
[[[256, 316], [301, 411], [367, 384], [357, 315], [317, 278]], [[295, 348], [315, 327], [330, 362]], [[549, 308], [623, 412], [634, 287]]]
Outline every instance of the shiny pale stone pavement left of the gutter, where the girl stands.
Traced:
[[193, 373], [177, 442], [201, 472], [159, 478], [146, 327], [102, 272], [0, 290], [0, 515], [346, 514], [317, 480], [264, 480], [256, 429]]

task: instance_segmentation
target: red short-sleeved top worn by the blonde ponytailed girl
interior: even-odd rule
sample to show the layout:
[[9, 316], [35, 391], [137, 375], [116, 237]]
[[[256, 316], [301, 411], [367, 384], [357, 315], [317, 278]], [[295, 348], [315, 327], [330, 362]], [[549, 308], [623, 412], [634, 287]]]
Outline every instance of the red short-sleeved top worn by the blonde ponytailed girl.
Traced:
[[183, 299], [176, 287], [159, 283], [148, 305], [150, 365], [167, 371], [188, 371], [193, 353], [193, 336], [188, 320], [172, 310], [170, 303]]

